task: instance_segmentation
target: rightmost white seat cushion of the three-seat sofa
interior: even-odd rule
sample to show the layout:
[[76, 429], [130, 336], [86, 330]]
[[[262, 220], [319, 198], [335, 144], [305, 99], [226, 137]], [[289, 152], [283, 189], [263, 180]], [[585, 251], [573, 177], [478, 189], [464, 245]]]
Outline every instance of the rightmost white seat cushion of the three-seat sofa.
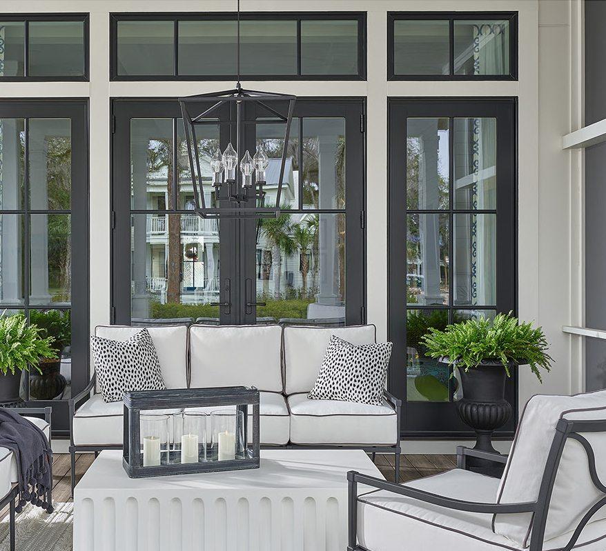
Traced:
[[385, 401], [310, 400], [307, 394], [292, 394], [287, 401], [293, 444], [395, 444], [398, 418]]

